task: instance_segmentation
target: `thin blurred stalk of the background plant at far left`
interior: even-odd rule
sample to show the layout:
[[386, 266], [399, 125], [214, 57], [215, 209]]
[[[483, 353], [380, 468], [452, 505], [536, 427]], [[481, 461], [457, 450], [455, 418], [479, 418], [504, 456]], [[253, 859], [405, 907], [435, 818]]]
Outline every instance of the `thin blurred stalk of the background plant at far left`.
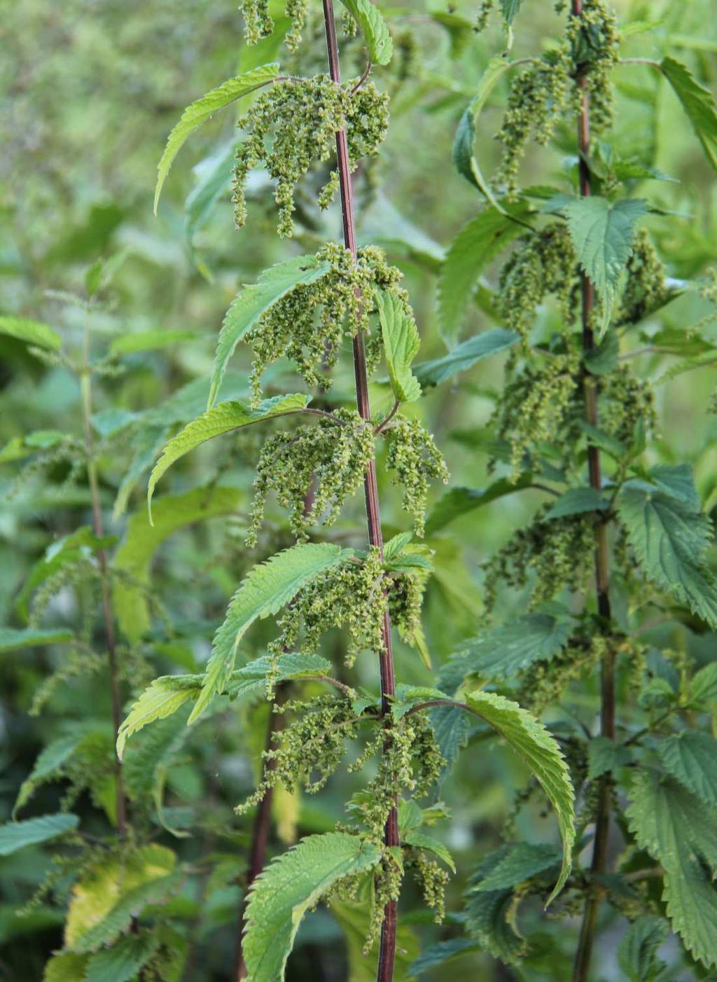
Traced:
[[[94, 438], [92, 435], [92, 383], [88, 364], [89, 330], [85, 329], [84, 363], [81, 376], [83, 395], [83, 424], [84, 451], [87, 457], [87, 481], [89, 497], [92, 503], [92, 531], [98, 539], [104, 535], [102, 524], [102, 509], [99, 502], [99, 482], [97, 480], [97, 464], [94, 459]], [[115, 618], [112, 610], [112, 593], [110, 591], [109, 575], [107, 573], [107, 556], [104, 549], [97, 551], [100, 589], [102, 594], [102, 619], [104, 622], [105, 644], [107, 645], [107, 664], [110, 677], [110, 696], [112, 699], [112, 728], [115, 741], [122, 723], [122, 699], [120, 695], [120, 676], [117, 667], [117, 640], [115, 637]], [[127, 835], [127, 801], [125, 798], [124, 782], [122, 780], [122, 764], [115, 758], [115, 781], [117, 787], [117, 829], [124, 839]]]

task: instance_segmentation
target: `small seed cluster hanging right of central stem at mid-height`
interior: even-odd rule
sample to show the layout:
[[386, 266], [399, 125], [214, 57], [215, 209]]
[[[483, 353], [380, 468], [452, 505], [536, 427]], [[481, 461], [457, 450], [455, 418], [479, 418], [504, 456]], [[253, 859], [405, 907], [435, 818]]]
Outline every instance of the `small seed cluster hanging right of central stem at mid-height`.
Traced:
[[388, 439], [386, 466], [391, 480], [403, 488], [404, 511], [414, 519], [416, 535], [423, 535], [428, 479], [448, 483], [448, 467], [431, 434], [417, 419], [397, 415], [384, 431]]

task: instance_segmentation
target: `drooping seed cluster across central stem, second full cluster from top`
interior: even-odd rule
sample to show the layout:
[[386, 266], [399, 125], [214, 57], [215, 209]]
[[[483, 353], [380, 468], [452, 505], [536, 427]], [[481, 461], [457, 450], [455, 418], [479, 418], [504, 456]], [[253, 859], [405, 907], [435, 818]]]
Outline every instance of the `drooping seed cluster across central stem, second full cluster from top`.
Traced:
[[296, 287], [248, 331], [246, 340], [254, 355], [254, 403], [261, 399], [263, 372], [281, 357], [296, 362], [310, 388], [330, 388], [328, 372], [336, 364], [343, 339], [353, 338], [359, 331], [365, 332], [369, 373], [378, 364], [380, 332], [369, 330], [369, 317], [375, 310], [373, 288], [398, 292], [405, 300], [405, 294], [398, 289], [402, 274], [386, 262], [383, 251], [375, 246], [359, 248], [356, 263], [348, 249], [335, 243], [322, 246], [316, 258], [330, 263], [330, 271], [314, 283]]

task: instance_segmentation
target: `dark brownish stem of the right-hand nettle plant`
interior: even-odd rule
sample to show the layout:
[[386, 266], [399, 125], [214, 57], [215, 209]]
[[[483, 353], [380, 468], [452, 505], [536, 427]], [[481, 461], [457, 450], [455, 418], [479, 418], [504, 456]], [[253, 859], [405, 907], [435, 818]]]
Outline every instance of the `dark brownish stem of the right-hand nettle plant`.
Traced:
[[[575, 17], [582, 16], [582, 0], [573, 0], [573, 14]], [[579, 191], [582, 197], [588, 197], [591, 192], [590, 172], [586, 163], [590, 151], [590, 104], [584, 76], [578, 80], [578, 83], [582, 91], [578, 117]], [[582, 350], [587, 354], [595, 347], [592, 332], [595, 294], [592, 283], [583, 273], [580, 274], [580, 292], [582, 300]], [[584, 396], [585, 419], [591, 426], [597, 426], [597, 390], [595, 379], [588, 371], [584, 373]], [[600, 475], [600, 452], [597, 447], [588, 447], [587, 467], [590, 487], [600, 491], [602, 479]], [[609, 578], [607, 524], [603, 520], [598, 520], [595, 526], [595, 586], [597, 611], [605, 622], [609, 622], [611, 617]], [[608, 646], [600, 665], [600, 733], [609, 739], [615, 738], [615, 653], [612, 646]], [[582, 911], [578, 951], [573, 966], [573, 982], [587, 982], [590, 970], [597, 915], [604, 895], [604, 891], [598, 888], [596, 881], [605, 872], [607, 866], [612, 787], [612, 775], [609, 773], [603, 775], [600, 779], [595, 818], [595, 838], [590, 862], [591, 883]]]

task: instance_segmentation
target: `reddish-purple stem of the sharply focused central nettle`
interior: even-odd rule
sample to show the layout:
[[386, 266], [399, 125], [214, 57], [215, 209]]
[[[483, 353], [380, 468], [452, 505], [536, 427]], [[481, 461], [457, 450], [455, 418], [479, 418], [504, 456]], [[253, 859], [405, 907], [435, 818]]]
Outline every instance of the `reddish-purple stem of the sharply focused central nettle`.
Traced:
[[[336, 21], [334, 19], [333, 0], [323, 0], [324, 26], [326, 29], [326, 49], [329, 61], [329, 73], [336, 84], [341, 83], [339, 67], [339, 48], [336, 41]], [[339, 191], [341, 196], [341, 212], [344, 229], [344, 246], [348, 248], [357, 261], [356, 222], [354, 218], [354, 190], [349, 166], [349, 144], [346, 129], [336, 134], [336, 156], [339, 165]], [[359, 330], [354, 338], [354, 374], [356, 376], [357, 407], [361, 419], [369, 421], [371, 408], [368, 400], [368, 374], [366, 356], [363, 345], [363, 334]], [[366, 499], [366, 519], [368, 523], [368, 540], [378, 549], [383, 558], [383, 536], [381, 534], [381, 516], [378, 505], [378, 483], [376, 480], [376, 464], [372, 460], [368, 465], [363, 481]], [[381, 709], [386, 721], [390, 720], [390, 700], [396, 691], [394, 678], [393, 651], [391, 646], [391, 618], [388, 611], [383, 617], [383, 650], [380, 652], [381, 672]], [[399, 846], [398, 812], [392, 808], [389, 812], [384, 830], [386, 846]], [[394, 962], [396, 960], [396, 900], [389, 900], [383, 911], [381, 926], [381, 944], [378, 953], [378, 972], [376, 982], [392, 982]]]

